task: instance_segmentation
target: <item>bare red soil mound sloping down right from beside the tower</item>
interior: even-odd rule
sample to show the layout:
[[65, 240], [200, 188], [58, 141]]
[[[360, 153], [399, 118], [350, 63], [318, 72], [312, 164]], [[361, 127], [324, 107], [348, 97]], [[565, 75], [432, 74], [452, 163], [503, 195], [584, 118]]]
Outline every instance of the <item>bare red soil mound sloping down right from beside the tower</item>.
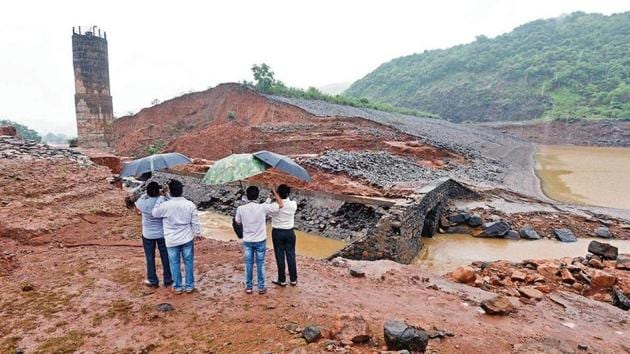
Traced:
[[162, 142], [165, 151], [218, 159], [231, 153], [272, 150], [318, 154], [330, 149], [387, 150], [429, 165], [456, 155], [418, 143], [361, 118], [316, 117], [239, 84], [222, 84], [146, 108], [115, 122], [116, 150], [142, 155]]

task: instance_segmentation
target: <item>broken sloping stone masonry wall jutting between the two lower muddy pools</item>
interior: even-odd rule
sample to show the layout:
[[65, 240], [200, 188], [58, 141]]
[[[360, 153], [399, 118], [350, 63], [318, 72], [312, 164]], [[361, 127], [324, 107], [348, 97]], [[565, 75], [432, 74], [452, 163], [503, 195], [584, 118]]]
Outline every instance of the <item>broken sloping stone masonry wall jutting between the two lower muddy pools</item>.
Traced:
[[473, 191], [452, 179], [436, 181], [419, 190], [413, 199], [393, 206], [375, 228], [331, 258], [390, 259], [410, 263], [422, 248], [423, 231], [427, 236], [435, 233], [447, 201], [474, 195]]

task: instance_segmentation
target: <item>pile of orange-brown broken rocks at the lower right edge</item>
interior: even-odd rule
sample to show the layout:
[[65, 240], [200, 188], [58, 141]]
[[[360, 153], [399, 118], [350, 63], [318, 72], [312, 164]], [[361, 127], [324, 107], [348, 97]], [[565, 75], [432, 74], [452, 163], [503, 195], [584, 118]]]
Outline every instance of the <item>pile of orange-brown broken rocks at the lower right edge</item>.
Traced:
[[558, 260], [475, 262], [449, 274], [453, 280], [532, 303], [554, 289], [630, 309], [630, 255], [592, 241], [585, 257]]

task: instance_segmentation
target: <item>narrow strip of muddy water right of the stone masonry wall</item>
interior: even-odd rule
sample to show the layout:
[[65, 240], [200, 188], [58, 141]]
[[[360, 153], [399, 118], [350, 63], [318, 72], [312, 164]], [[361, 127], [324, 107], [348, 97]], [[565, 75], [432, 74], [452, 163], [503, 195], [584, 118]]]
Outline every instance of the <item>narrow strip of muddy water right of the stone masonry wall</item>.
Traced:
[[[593, 238], [579, 238], [577, 242], [556, 240], [506, 240], [479, 238], [466, 234], [438, 234], [423, 238], [422, 251], [414, 264], [431, 273], [444, 274], [475, 261], [551, 259], [584, 256]], [[630, 240], [602, 240], [619, 248], [619, 253], [630, 253]]]

